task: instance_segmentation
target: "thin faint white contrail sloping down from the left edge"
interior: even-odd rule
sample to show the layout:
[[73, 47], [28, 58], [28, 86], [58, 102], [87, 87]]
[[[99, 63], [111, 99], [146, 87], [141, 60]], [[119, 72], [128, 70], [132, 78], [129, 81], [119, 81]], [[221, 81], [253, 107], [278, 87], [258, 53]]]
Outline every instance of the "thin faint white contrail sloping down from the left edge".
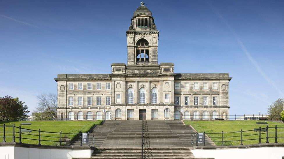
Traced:
[[61, 35], [61, 34], [57, 34], [57, 33], [55, 33], [55, 32], [51, 32], [51, 31], [49, 31], [49, 30], [46, 30], [46, 29], [40, 28], [40, 27], [38, 27], [38, 26], [36, 26], [36, 25], [32, 25], [32, 24], [29, 24], [29, 23], [26, 23], [26, 22], [23, 22], [23, 21], [20, 21], [20, 20], [17, 20], [17, 19], [11, 18], [11, 17], [7, 17], [7, 16], [2, 15], [2, 14], [0, 14], [0, 16], [1, 16], [1, 17], [4, 17], [4, 18], [6, 18], [6, 19], [10, 19], [10, 20], [12, 20], [12, 21], [18, 22], [18, 23], [22, 23], [22, 24], [24, 24], [24, 25], [28, 25], [28, 26], [31, 26], [31, 27], [34, 27], [34, 28], [40, 29], [40, 30], [45, 31], [45, 32], [48, 32], [48, 33], [52, 33], [52, 34], [55, 34], [55, 35], [61, 36], [61, 37], [63, 37], [63, 38], [67, 38], [67, 39], [70, 39], [70, 40], [74, 40], [74, 41], [77, 41], [77, 42], [83, 43], [83, 44], [85, 44], [85, 45], [93, 46], [93, 47], [96, 47], [96, 48], [98, 48], [98, 49], [104, 50], [104, 51], [106, 51], [106, 52], [110, 52], [110, 53], [112, 53], [112, 54], [115, 54], [114, 52], [111, 52], [111, 51], [109, 51], [109, 50], [106, 50], [106, 49], [104, 49], [104, 48], [102, 48], [102, 47], [97, 47], [97, 46], [95, 46], [95, 45], [92, 45], [92, 44], [86, 43], [86, 42], [84, 42], [84, 41], [80, 41], [80, 40], [77, 40], [77, 39], [73, 39], [73, 38], [69, 38], [69, 37], [63, 36], [63, 35]]

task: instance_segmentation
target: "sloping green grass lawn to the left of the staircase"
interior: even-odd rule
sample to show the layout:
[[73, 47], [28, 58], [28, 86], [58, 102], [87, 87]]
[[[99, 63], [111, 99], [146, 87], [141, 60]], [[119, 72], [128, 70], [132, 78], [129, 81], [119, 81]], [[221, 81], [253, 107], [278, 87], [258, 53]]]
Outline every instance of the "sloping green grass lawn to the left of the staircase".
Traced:
[[[40, 131], [49, 131], [49, 132], [58, 132], [62, 131], [62, 133], [70, 133], [70, 134], [62, 134], [62, 137], [68, 137], [69, 139], [73, 139], [76, 137], [80, 131], [88, 132], [94, 125], [100, 125], [103, 120], [95, 120], [95, 121], [0, 121], [0, 125], [3, 126], [12, 126], [15, 124], [16, 127], [20, 126], [20, 123], [31, 123], [31, 125], [21, 125], [23, 129], [32, 129]], [[12, 141], [13, 136], [13, 127], [5, 128], [5, 136], [6, 142]], [[8, 132], [10, 131], [10, 132]], [[15, 128], [15, 137], [19, 137], [19, 128]], [[22, 143], [28, 144], [38, 144], [38, 131], [32, 131], [30, 133], [23, 132], [21, 134]], [[0, 140], [3, 140], [3, 127], [0, 127]], [[23, 139], [29, 138], [29, 139]], [[41, 145], [59, 145], [60, 134], [55, 133], [47, 133], [40, 132], [40, 140], [51, 140], [51, 141], [41, 141]], [[16, 142], [19, 142], [19, 138], [15, 138]]]

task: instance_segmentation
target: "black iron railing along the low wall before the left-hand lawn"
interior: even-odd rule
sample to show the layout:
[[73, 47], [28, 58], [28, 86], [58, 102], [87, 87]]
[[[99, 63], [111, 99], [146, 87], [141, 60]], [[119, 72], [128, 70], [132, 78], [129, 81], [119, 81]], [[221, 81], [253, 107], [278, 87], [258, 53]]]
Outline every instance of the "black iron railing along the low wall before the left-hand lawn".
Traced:
[[[51, 131], [42, 131], [40, 129], [34, 130], [34, 129], [28, 129], [23, 128], [21, 126], [17, 127], [15, 124], [13, 125], [5, 125], [0, 126], [0, 131], [3, 136], [0, 136], [0, 138], [3, 138], [3, 142], [19, 142], [19, 143], [31, 143], [30, 141], [37, 140], [38, 145], [42, 145], [42, 141], [45, 141], [44, 145], [90, 145], [90, 142], [95, 145], [95, 136], [93, 135], [93, 140], [90, 138], [90, 134], [87, 134], [88, 138], [83, 140], [82, 132], [79, 133], [63, 133], [60, 132], [51, 132]], [[86, 136], [86, 135], [85, 135]], [[12, 138], [11, 140], [9, 140]], [[16, 141], [17, 139], [17, 141]], [[85, 141], [85, 142], [84, 142]], [[48, 143], [50, 142], [50, 143]], [[34, 142], [33, 142], [34, 143]]]

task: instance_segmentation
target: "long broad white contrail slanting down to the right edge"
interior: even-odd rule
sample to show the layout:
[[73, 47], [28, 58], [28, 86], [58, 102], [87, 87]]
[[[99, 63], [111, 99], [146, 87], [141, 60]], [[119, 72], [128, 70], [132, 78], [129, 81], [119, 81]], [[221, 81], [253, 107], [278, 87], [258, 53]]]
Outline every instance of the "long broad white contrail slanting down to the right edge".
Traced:
[[265, 80], [270, 83], [277, 91], [278, 93], [283, 97], [284, 94], [283, 92], [277, 87], [277, 85], [274, 83], [274, 81], [272, 81], [266, 74], [265, 72], [262, 71], [262, 69], [260, 68], [260, 66], [258, 65], [258, 63], [255, 61], [255, 59], [253, 59], [253, 57], [251, 56], [251, 54], [248, 52], [248, 50], [246, 49], [244, 43], [241, 41], [241, 39], [239, 38], [239, 36], [237, 35], [237, 33], [235, 32], [235, 30], [231, 27], [231, 25], [229, 25], [229, 23], [227, 23], [227, 21], [223, 18], [222, 14], [214, 7], [212, 6], [212, 4], [209, 5], [210, 8], [212, 9], [212, 11], [223, 21], [223, 23], [226, 24], [226, 26], [231, 30], [232, 34], [235, 36], [235, 38], [237, 39], [237, 42], [239, 43], [239, 45], [241, 46], [243, 52], [246, 54], [247, 58], [251, 61], [251, 63], [254, 65], [254, 67], [256, 68], [256, 70], [262, 75], [263, 78], [265, 78]]

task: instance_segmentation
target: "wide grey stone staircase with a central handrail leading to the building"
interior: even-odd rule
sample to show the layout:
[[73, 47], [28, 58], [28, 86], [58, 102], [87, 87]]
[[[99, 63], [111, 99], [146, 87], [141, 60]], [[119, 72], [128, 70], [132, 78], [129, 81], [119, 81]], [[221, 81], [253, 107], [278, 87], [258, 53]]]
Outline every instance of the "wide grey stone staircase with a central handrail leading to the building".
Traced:
[[196, 131], [181, 120], [106, 120], [90, 131], [91, 158], [141, 158], [142, 124], [143, 158], [194, 158], [188, 136]]

